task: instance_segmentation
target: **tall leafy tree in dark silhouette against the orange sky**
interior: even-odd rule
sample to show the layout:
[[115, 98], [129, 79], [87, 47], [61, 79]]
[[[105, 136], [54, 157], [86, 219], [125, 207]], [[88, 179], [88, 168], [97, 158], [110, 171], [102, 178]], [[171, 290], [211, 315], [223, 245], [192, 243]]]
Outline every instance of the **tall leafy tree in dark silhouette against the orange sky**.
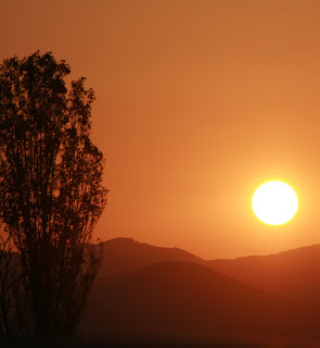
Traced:
[[75, 333], [102, 259], [91, 243], [106, 202], [94, 95], [84, 77], [67, 90], [69, 73], [51, 52], [0, 65], [0, 220], [36, 337]]

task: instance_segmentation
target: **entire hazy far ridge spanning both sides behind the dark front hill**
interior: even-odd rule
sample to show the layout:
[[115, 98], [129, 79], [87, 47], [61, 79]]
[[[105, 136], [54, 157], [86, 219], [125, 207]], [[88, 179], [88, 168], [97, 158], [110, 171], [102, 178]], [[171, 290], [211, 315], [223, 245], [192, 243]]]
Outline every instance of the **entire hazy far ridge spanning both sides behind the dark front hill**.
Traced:
[[178, 248], [161, 248], [132, 238], [103, 244], [104, 260], [99, 273], [112, 276], [163, 261], [187, 261], [207, 265], [234, 279], [282, 298], [320, 302], [320, 245], [268, 256], [205, 261]]

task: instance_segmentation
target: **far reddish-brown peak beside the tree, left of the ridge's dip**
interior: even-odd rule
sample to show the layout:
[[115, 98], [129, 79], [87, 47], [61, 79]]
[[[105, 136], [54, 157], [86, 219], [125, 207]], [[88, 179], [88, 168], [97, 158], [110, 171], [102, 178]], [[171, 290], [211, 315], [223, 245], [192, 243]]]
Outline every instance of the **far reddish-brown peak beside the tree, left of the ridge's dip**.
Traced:
[[103, 243], [104, 260], [99, 276], [110, 276], [138, 270], [162, 261], [205, 263], [201, 258], [178, 249], [159, 248], [131, 238], [115, 238]]

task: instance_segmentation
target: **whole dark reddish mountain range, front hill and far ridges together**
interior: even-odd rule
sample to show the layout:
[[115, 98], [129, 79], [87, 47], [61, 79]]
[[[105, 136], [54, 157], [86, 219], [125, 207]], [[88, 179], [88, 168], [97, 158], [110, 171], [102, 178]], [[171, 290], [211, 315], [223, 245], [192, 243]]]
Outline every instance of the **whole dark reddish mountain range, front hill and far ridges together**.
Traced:
[[80, 323], [86, 337], [320, 346], [319, 245], [210, 261], [131, 238], [103, 249]]

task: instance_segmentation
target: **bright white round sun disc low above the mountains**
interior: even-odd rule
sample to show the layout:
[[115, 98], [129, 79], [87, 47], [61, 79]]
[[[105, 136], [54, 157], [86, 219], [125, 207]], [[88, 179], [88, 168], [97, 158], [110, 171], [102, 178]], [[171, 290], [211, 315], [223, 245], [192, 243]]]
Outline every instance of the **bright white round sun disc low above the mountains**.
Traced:
[[294, 189], [282, 182], [263, 184], [254, 194], [253, 210], [257, 217], [268, 225], [289, 222], [298, 209]]

